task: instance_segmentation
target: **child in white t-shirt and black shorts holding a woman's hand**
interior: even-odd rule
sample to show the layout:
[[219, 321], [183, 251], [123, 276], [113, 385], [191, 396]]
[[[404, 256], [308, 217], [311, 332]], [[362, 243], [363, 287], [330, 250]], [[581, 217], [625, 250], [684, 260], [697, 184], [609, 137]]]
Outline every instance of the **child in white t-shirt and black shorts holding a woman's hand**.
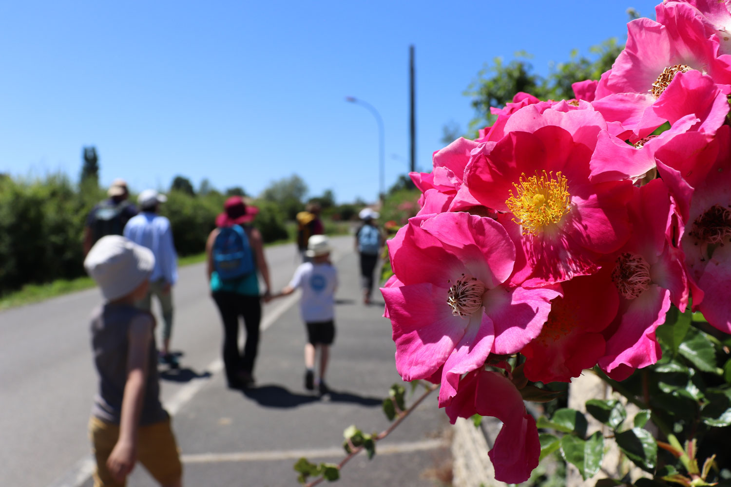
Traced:
[[287, 296], [302, 288], [300, 314], [307, 329], [305, 344], [305, 388], [314, 390], [315, 357], [319, 352], [320, 394], [330, 390], [325, 383], [330, 345], [335, 340], [335, 291], [338, 288], [338, 272], [330, 263], [330, 241], [325, 235], [313, 235], [308, 240], [306, 255], [310, 262], [303, 262], [295, 270], [289, 285], [272, 299]]

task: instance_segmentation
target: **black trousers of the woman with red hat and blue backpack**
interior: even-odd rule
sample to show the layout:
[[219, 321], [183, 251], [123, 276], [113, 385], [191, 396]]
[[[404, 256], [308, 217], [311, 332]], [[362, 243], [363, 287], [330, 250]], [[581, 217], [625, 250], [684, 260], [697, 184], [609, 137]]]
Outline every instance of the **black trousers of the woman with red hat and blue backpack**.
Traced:
[[[224, 366], [230, 384], [238, 382], [238, 372], [254, 371], [254, 360], [259, 349], [259, 323], [262, 320], [262, 302], [259, 296], [218, 291], [213, 293], [224, 323]], [[243, 354], [238, 349], [238, 317], [243, 318], [246, 328], [246, 344]]]

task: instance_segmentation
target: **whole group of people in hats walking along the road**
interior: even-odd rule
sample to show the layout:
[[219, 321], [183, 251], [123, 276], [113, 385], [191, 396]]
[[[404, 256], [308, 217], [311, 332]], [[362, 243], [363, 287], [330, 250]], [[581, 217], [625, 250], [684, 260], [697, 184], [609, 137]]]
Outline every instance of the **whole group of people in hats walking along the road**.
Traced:
[[[177, 255], [170, 221], [159, 214], [167, 198], [145, 190], [137, 198], [138, 212], [128, 201], [124, 180], [115, 180], [108, 196], [88, 215], [83, 239], [84, 266], [103, 299], [91, 317], [91, 346], [99, 380], [89, 421], [96, 459], [94, 486], [124, 486], [137, 461], [161, 486], [181, 486], [181, 461], [170, 416], [159, 399], [156, 367], [158, 363], [179, 367], [178, 357], [170, 349]], [[303, 386], [328, 394], [325, 375], [336, 335], [338, 275], [319, 207], [308, 205], [297, 215], [301, 264], [289, 284], [276, 293], [271, 291], [262, 235], [253, 225], [257, 211], [239, 196], [230, 197], [205, 245], [208, 287], [223, 323], [227, 386], [235, 390], [254, 386], [262, 301], [287, 296], [299, 288], [307, 335]], [[360, 254], [363, 302], [370, 304], [376, 261], [384, 242], [374, 223], [378, 214], [366, 209], [360, 217], [363, 226], [355, 234], [355, 246]], [[152, 296], [162, 308], [159, 349]], [[246, 329], [243, 350], [238, 343], [240, 319]]]

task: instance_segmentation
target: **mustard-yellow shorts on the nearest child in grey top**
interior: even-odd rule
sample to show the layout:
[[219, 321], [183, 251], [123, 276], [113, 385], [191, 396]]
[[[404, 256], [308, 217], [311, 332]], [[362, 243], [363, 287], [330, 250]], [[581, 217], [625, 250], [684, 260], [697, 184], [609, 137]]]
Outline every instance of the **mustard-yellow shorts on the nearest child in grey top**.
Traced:
[[[124, 487], [118, 483], [107, 469], [109, 458], [119, 437], [119, 425], [105, 423], [99, 418], [89, 420], [91, 450], [96, 459], [94, 487]], [[137, 432], [137, 461], [150, 472], [162, 486], [175, 483], [183, 475], [183, 466], [178, 455], [170, 419], [159, 423], [140, 426]]]

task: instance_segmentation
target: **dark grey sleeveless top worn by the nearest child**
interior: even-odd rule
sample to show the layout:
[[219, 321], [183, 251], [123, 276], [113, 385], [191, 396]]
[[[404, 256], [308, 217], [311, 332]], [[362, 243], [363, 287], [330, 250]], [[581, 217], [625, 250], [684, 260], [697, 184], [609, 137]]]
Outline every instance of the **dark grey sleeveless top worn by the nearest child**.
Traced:
[[[99, 376], [99, 389], [94, 397], [91, 414], [107, 423], [119, 424], [122, 396], [127, 379], [127, 350], [129, 326], [137, 320], [152, 323], [149, 312], [131, 304], [105, 304], [91, 315], [91, 350]], [[152, 327], [151, 327], [152, 333]], [[140, 425], [158, 423], [167, 419], [160, 404], [160, 386], [157, 377], [157, 350], [154, 333], [148, 350], [148, 373], [145, 381]]]

